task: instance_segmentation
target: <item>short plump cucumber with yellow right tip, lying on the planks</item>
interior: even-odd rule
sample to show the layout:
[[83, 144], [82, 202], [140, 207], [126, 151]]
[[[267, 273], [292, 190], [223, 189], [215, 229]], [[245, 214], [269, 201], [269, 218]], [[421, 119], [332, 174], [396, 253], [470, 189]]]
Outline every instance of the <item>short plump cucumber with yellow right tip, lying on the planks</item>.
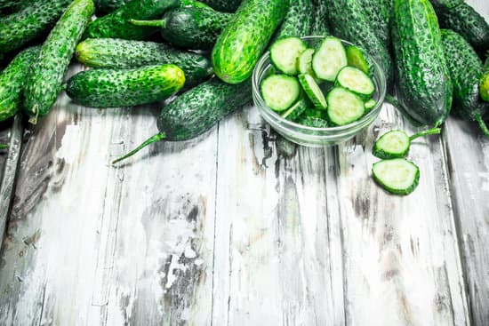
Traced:
[[133, 107], [168, 99], [184, 83], [185, 74], [175, 65], [91, 69], [72, 76], [66, 91], [85, 107]]

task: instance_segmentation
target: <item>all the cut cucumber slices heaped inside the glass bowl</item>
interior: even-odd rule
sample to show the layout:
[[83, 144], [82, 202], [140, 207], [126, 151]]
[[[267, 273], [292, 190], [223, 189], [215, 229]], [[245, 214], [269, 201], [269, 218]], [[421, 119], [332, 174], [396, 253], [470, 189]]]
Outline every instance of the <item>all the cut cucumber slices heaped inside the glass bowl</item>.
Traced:
[[316, 128], [341, 126], [375, 107], [370, 68], [354, 45], [345, 49], [340, 39], [327, 36], [312, 49], [299, 37], [285, 37], [270, 46], [270, 60], [279, 74], [263, 79], [261, 96], [287, 120]]

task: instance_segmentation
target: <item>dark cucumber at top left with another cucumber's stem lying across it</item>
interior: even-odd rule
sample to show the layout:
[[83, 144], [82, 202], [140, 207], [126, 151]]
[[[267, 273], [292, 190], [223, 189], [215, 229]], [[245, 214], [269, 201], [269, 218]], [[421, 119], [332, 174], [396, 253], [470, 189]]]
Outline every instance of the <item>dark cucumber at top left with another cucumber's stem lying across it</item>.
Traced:
[[156, 20], [168, 9], [179, 5], [179, 0], [131, 0], [115, 12], [93, 20], [84, 33], [84, 39], [113, 37], [144, 40], [155, 33], [157, 28], [135, 26], [130, 20]]

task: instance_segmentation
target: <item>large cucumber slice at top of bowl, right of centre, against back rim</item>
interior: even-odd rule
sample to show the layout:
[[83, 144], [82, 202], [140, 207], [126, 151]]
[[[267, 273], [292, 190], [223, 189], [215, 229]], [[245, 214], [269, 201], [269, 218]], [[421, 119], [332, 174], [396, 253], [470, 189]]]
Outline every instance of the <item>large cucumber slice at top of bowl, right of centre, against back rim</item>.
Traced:
[[312, 57], [312, 69], [317, 78], [334, 82], [341, 68], [348, 65], [347, 52], [341, 40], [326, 37]]

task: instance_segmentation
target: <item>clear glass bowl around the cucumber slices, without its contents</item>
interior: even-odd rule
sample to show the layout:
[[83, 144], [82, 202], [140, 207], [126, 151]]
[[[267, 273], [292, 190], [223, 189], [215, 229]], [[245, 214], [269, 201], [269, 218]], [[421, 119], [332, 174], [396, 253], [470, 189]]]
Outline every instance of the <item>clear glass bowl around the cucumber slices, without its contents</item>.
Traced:
[[[301, 39], [310, 47], [316, 48], [321, 43], [324, 36], [305, 36]], [[341, 40], [343, 45], [353, 45], [348, 41]], [[365, 53], [365, 55], [367, 55]], [[293, 123], [277, 114], [265, 104], [265, 100], [261, 97], [260, 84], [267, 76], [275, 72], [270, 62], [269, 52], [266, 52], [258, 61], [253, 70], [253, 102], [261, 116], [267, 123], [271, 125], [280, 135], [293, 143], [307, 147], [326, 147], [341, 144], [349, 139], [352, 139], [357, 133], [364, 131], [371, 123], [377, 119], [381, 113], [381, 107], [386, 95], [386, 79], [384, 72], [379, 64], [368, 56], [368, 60], [373, 63], [373, 83], [375, 84], [375, 93], [373, 99], [377, 104], [370, 112], [364, 115], [360, 120], [354, 123], [345, 124], [337, 127], [329, 128], [314, 128]]]

